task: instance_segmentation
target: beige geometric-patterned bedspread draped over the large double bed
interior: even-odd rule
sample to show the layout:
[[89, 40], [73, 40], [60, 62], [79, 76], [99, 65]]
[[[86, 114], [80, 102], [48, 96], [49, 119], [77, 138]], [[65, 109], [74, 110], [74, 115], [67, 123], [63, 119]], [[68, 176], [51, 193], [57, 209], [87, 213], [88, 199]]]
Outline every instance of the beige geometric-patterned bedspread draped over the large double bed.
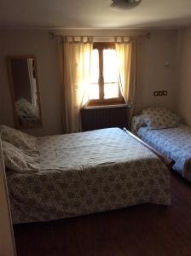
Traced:
[[40, 171], [7, 172], [14, 224], [169, 205], [170, 173], [119, 128], [40, 137]]

